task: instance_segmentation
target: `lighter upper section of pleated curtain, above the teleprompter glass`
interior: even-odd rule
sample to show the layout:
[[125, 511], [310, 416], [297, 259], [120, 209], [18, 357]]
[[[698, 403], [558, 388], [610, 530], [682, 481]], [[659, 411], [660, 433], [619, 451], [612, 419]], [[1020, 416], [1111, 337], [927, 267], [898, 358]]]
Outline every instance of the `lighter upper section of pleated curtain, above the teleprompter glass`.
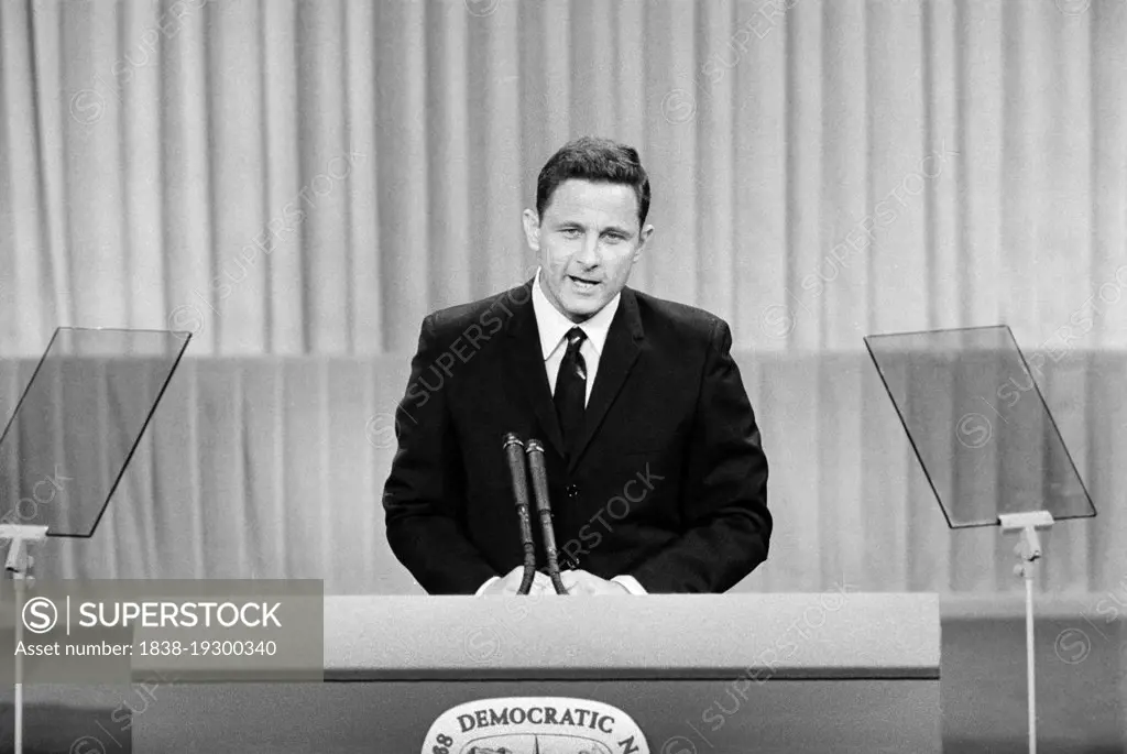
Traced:
[[2, 353], [407, 352], [529, 276], [584, 133], [651, 172], [637, 286], [737, 345], [1127, 345], [1121, 0], [5, 0], [0, 35]]

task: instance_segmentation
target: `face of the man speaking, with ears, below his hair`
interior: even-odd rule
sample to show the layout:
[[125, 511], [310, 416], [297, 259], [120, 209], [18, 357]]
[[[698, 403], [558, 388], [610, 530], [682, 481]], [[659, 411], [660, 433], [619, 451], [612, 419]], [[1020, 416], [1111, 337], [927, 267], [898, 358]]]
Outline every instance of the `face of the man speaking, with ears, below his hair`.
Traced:
[[556, 188], [542, 218], [524, 211], [524, 232], [540, 252], [544, 295], [573, 322], [583, 322], [630, 280], [654, 227], [639, 228], [630, 186], [573, 179]]

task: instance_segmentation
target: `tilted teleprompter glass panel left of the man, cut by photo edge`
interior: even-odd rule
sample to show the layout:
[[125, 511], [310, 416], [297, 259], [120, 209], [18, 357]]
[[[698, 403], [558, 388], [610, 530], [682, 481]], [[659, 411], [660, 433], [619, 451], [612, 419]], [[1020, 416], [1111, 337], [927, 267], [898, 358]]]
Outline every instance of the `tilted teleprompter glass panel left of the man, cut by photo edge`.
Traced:
[[0, 524], [92, 535], [190, 337], [56, 329], [0, 435]]

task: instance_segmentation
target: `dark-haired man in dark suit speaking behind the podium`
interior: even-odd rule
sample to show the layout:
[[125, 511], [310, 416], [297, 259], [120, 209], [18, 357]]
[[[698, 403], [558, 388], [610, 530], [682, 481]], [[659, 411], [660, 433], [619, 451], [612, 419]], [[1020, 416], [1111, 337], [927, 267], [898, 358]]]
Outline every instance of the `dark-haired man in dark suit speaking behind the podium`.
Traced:
[[511, 432], [544, 445], [569, 594], [725, 592], [766, 558], [767, 462], [728, 325], [627, 286], [649, 202], [636, 150], [566, 144], [524, 211], [533, 278], [424, 319], [383, 506], [428, 593], [516, 593]]

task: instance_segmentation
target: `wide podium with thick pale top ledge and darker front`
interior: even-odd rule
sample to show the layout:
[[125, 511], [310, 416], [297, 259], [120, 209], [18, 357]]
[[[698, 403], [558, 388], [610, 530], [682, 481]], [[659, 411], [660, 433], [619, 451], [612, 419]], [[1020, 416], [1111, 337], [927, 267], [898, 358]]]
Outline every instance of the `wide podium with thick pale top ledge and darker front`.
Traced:
[[407, 754], [459, 704], [545, 697], [654, 754], [942, 751], [934, 594], [330, 596], [325, 642], [323, 683], [153, 690], [133, 751]]

